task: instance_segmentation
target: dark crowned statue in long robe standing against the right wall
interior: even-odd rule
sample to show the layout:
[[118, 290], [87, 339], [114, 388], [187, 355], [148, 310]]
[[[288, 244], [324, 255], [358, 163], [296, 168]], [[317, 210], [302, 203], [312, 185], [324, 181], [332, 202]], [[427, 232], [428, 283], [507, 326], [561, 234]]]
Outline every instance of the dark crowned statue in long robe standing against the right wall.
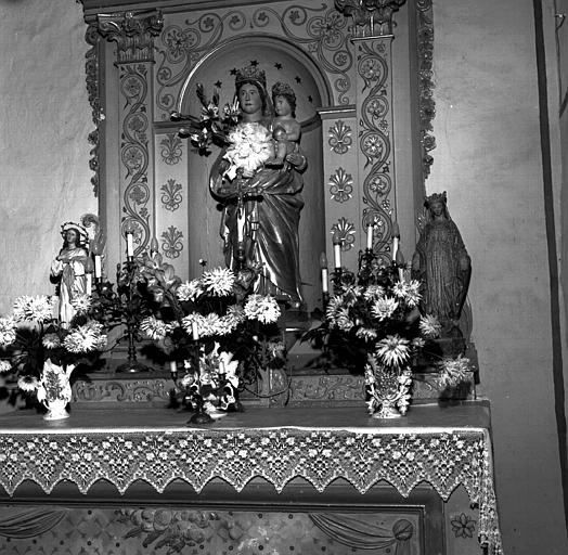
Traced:
[[428, 196], [424, 205], [428, 221], [412, 258], [412, 275], [424, 284], [421, 311], [438, 318], [442, 336], [461, 335], [459, 320], [469, 287], [472, 261], [450, 218], [446, 192]]

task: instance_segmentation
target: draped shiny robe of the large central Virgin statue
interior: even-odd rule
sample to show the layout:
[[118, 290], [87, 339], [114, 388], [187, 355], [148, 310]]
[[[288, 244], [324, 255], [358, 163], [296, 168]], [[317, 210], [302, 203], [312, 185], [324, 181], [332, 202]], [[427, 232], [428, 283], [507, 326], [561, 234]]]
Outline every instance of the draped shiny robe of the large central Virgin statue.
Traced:
[[[237, 246], [237, 207], [234, 193], [223, 193], [227, 178], [220, 175], [219, 165], [224, 152], [211, 168], [210, 190], [224, 204], [221, 235], [228, 266], [234, 264]], [[306, 167], [306, 162], [302, 167]], [[255, 285], [262, 293], [284, 294], [293, 301], [301, 301], [299, 273], [298, 225], [304, 207], [301, 175], [288, 163], [282, 168], [260, 168], [248, 179], [259, 196], [245, 202], [245, 236], [250, 237], [250, 223], [258, 221], [255, 241], [247, 241], [247, 260], [263, 264], [263, 278]], [[270, 282], [267, 287], [266, 282]]]

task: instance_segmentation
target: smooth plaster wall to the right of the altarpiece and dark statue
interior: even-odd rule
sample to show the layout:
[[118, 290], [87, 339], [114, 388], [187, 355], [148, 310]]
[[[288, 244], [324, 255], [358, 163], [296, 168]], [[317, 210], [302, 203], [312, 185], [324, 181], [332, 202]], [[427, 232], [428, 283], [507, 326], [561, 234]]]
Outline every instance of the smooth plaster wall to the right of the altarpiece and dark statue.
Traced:
[[438, 147], [426, 188], [448, 191], [473, 260], [505, 553], [565, 554], [533, 7], [435, 0], [434, 13]]

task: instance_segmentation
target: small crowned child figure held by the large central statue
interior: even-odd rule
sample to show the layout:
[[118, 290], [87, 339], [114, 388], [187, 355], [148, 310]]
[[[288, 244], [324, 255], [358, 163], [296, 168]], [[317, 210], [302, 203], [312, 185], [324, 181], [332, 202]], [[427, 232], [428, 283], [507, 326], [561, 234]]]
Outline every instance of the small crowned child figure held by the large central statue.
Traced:
[[276, 82], [272, 87], [272, 103], [276, 116], [273, 119], [275, 157], [267, 166], [282, 167], [286, 157], [299, 146], [301, 126], [296, 121], [296, 94], [288, 83]]

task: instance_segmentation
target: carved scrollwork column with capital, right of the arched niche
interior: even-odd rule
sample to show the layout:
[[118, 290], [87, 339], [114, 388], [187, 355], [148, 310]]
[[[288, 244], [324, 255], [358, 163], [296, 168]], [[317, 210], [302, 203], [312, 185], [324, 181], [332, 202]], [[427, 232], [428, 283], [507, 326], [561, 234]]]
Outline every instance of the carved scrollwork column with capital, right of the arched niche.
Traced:
[[390, 260], [396, 219], [395, 149], [392, 135], [392, 14], [404, 0], [336, 0], [337, 10], [352, 17], [356, 49], [358, 173], [362, 212], [360, 245], [376, 222], [373, 248], [379, 261]]

